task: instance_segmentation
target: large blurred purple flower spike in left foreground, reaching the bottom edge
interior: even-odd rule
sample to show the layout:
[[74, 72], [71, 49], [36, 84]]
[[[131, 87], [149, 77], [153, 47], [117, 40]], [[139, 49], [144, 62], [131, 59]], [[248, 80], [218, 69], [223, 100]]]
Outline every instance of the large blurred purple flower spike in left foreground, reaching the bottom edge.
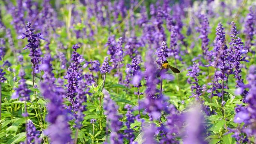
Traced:
[[[48, 65], [48, 71], [52, 70], [51, 64]], [[49, 73], [45, 71], [45, 73]], [[50, 76], [50, 75], [46, 75]], [[47, 104], [48, 114], [46, 120], [51, 125], [45, 130], [45, 134], [51, 138], [52, 144], [68, 144], [71, 142], [71, 131], [68, 125], [70, 117], [68, 109], [64, 109], [63, 98], [66, 96], [66, 91], [61, 86], [55, 85], [54, 82], [45, 79], [40, 83], [40, 92], [45, 99], [48, 99]]]

